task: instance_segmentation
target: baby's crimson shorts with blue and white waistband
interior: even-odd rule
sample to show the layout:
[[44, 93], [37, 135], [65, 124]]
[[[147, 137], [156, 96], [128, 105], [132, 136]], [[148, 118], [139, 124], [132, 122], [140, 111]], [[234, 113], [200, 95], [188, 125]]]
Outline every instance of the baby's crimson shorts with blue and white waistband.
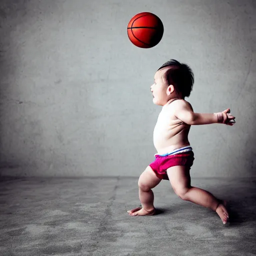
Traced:
[[169, 167], [182, 165], [191, 167], [194, 160], [193, 151], [177, 153], [167, 156], [155, 155], [155, 160], [149, 164], [158, 178], [167, 179], [168, 175], [166, 170]]

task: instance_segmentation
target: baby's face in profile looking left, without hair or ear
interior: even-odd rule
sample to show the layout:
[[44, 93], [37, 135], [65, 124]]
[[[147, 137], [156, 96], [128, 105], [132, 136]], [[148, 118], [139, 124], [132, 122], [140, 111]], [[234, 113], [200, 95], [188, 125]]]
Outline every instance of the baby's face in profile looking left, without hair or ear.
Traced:
[[153, 103], [156, 105], [164, 105], [168, 101], [168, 84], [166, 84], [164, 79], [166, 70], [167, 68], [162, 68], [156, 71], [154, 75], [154, 83], [150, 86], [153, 95]]

